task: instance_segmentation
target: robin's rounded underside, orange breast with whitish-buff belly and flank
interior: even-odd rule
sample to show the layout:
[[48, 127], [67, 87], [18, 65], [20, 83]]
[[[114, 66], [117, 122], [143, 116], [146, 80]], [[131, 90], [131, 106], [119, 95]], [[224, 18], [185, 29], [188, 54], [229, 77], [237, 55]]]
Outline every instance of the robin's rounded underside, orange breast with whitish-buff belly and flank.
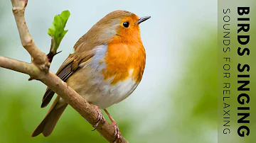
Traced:
[[77, 91], [81, 96], [100, 108], [107, 108], [127, 98], [142, 79], [145, 66], [144, 55], [137, 55], [135, 47], [111, 46], [98, 46], [90, 62], [81, 64], [81, 74], [87, 79], [84, 86], [76, 86], [80, 87]]

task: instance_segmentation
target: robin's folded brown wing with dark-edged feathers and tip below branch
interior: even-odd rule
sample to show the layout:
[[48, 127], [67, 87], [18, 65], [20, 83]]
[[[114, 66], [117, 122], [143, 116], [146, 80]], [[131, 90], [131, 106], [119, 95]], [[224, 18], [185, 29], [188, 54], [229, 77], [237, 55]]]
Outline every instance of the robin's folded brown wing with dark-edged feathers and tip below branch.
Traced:
[[[86, 62], [93, 55], [95, 55], [94, 52], [85, 52], [85, 53], [86, 55], [83, 57], [81, 57], [82, 56], [81, 53], [69, 55], [68, 58], [65, 59], [65, 62], [63, 62], [63, 64], [60, 66], [60, 69], [58, 69], [56, 75], [63, 81], [66, 81], [68, 77], [70, 77], [75, 71], [80, 69], [81, 63]], [[50, 88], [47, 88], [46, 93], [43, 96], [41, 108], [46, 107], [48, 103], [50, 103], [50, 100], [53, 98], [53, 95], [54, 95], [54, 91], [52, 91]]]

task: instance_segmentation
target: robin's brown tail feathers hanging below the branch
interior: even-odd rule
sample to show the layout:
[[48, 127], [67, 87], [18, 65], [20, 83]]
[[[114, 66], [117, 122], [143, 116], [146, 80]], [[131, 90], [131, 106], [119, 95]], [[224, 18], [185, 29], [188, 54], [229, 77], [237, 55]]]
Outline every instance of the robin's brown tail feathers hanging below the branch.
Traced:
[[55, 125], [57, 124], [67, 105], [68, 103], [65, 103], [65, 101], [60, 99], [60, 96], [58, 96], [53, 102], [53, 105], [50, 107], [50, 110], [48, 110], [46, 117], [33, 131], [31, 137], [36, 137], [41, 133], [43, 133], [43, 136], [48, 137], [53, 132]]

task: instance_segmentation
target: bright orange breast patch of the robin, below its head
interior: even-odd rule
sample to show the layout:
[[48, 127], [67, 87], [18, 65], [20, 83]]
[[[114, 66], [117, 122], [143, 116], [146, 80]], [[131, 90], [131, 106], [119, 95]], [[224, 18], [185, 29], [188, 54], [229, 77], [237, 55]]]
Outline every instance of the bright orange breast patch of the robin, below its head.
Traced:
[[112, 85], [129, 77], [139, 83], [145, 67], [146, 53], [141, 42], [111, 42], [107, 46], [105, 80], [114, 78]]

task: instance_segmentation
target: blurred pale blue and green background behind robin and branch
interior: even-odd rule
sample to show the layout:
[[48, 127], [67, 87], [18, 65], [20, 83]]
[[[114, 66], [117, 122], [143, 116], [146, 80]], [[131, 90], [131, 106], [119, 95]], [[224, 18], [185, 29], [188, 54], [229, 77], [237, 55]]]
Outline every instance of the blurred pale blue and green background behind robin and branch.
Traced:
[[[109, 108], [122, 135], [134, 143], [217, 142], [217, 1], [28, 1], [25, 17], [36, 45], [48, 53], [53, 17], [70, 11], [63, 52], [50, 67], [55, 72], [80, 36], [117, 9], [151, 16], [140, 25], [146, 48], [142, 82], [132, 96]], [[30, 62], [10, 1], [0, 1], [0, 31], [0, 55]], [[49, 108], [40, 108], [46, 86], [25, 74], [2, 68], [0, 73], [0, 142], [106, 142], [70, 106], [50, 137], [31, 138]]]

